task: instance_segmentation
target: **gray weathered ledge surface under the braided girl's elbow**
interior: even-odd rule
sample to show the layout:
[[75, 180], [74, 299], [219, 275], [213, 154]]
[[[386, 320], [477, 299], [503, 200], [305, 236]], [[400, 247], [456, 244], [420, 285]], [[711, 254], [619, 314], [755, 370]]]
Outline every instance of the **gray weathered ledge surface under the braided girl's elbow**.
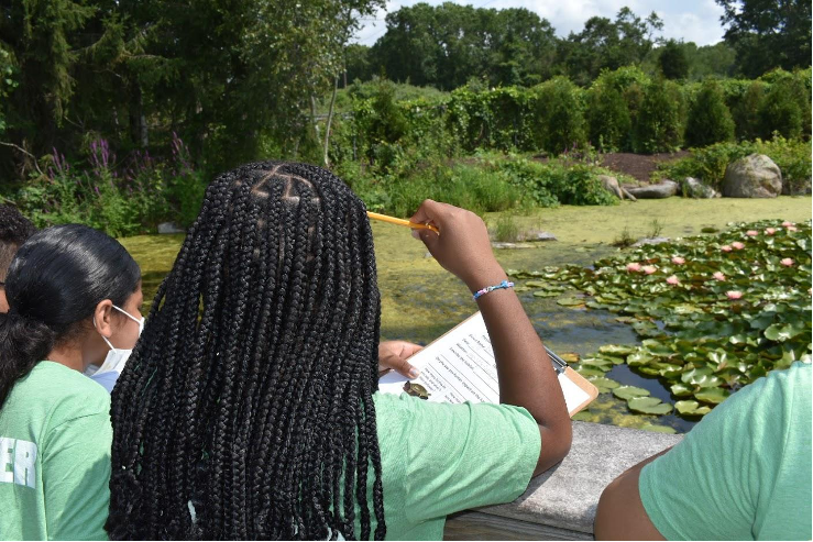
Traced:
[[[562, 463], [531, 480], [528, 490], [516, 501], [476, 512], [590, 534], [604, 488], [627, 468], [681, 439], [681, 435], [573, 422], [573, 445]], [[455, 517], [458, 531], [464, 519], [465, 513]], [[512, 523], [504, 524], [510, 531]]]

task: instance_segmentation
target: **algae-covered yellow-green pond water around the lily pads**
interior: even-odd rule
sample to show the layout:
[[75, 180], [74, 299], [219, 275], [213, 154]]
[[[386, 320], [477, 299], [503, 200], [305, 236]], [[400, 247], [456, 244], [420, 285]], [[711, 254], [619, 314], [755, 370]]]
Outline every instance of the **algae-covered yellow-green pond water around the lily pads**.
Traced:
[[[810, 220], [811, 198], [777, 198], [772, 200], [668, 200], [625, 202], [616, 207], [562, 207], [518, 215], [521, 228], [549, 231], [559, 241], [537, 248], [497, 251], [506, 268], [540, 269], [549, 265], [591, 265], [617, 252], [612, 246], [624, 229], [635, 237], [646, 236], [658, 220], [662, 235], [689, 236], [703, 228], [724, 230], [728, 222], [782, 219]], [[496, 214], [487, 215], [492, 222]], [[446, 273], [426, 248], [406, 229], [389, 224], [373, 224], [382, 291], [382, 336], [429, 343], [464, 318], [476, 311], [471, 295], [457, 278]], [[152, 299], [164, 276], [169, 272], [183, 242], [180, 235], [146, 235], [122, 240], [122, 244], [142, 266], [144, 298]], [[591, 354], [604, 344], [637, 344], [626, 324], [615, 321], [605, 311], [572, 309], [556, 303], [556, 299], [520, 295], [526, 310], [540, 336], [559, 353]], [[149, 303], [147, 303], [149, 305]], [[616, 366], [608, 375], [622, 384], [648, 389], [664, 402], [674, 402], [669, 391], [655, 378]], [[678, 416], [633, 414], [625, 401], [603, 394], [579, 419], [622, 427], [685, 432], [694, 421]]]

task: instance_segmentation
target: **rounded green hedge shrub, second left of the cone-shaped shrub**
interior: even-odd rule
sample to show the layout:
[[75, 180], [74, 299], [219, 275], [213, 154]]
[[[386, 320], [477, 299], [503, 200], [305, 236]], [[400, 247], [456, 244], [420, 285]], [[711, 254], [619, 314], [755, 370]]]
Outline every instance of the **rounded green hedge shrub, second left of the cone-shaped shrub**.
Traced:
[[633, 122], [624, 96], [614, 87], [596, 86], [589, 96], [590, 142], [605, 153], [627, 150]]

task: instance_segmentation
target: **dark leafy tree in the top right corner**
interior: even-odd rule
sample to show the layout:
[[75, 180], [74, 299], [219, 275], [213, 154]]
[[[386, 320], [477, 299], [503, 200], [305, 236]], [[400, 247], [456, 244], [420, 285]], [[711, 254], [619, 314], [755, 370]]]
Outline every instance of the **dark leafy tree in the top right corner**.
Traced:
[[715, 0], [723, 7], [725, 40], [737, 52], [737, 66], [749, 78], [776, 67], [811, 65], [810, 0]]

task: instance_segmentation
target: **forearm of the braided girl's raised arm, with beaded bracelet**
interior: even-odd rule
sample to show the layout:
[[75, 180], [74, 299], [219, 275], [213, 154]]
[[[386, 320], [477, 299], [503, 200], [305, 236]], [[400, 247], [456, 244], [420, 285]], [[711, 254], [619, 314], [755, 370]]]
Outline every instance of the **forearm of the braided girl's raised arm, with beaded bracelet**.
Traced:
[[[507, 277], [498, 266], [466, 279], [472, 291]], [[571, 421], [550, 357], [513, 289], [499, 289], [477, 300], [497, 361], [499, 400], [523, 407], [540, 428], [542, 454], [535, 474], [550, 468], [570, 450]]]

